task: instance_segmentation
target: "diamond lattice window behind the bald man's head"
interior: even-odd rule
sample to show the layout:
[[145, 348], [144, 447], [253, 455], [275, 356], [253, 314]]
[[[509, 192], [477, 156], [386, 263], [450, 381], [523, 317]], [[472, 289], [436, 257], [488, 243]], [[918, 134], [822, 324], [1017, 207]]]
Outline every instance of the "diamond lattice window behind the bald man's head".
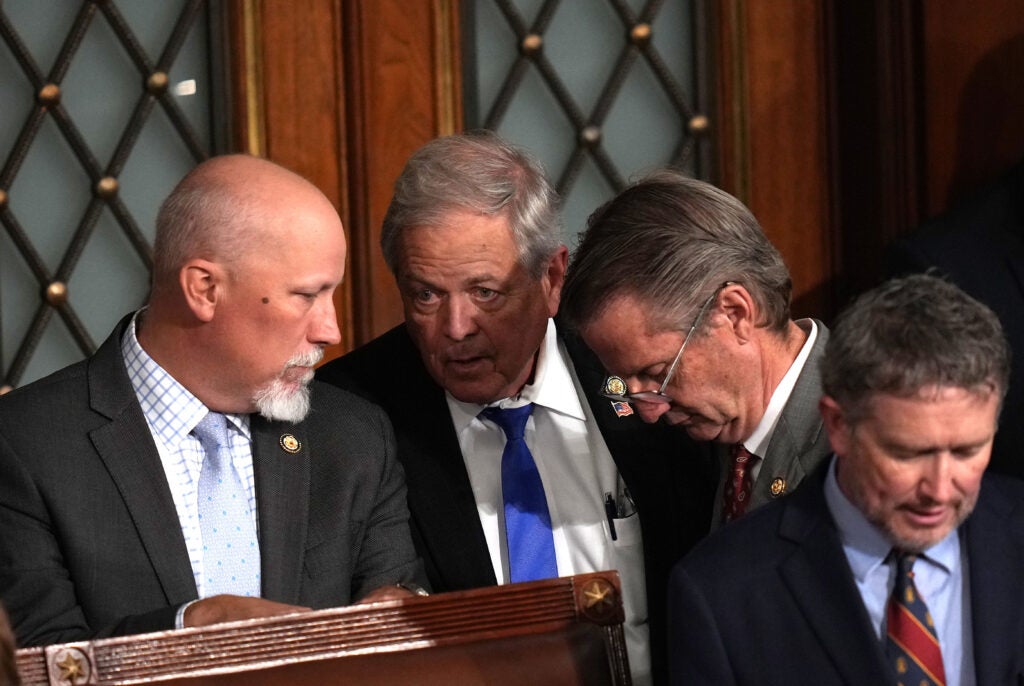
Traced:
[[0, 2], [0, 387], [144, 301], [159, 203], [211, 148], [205, 5]]

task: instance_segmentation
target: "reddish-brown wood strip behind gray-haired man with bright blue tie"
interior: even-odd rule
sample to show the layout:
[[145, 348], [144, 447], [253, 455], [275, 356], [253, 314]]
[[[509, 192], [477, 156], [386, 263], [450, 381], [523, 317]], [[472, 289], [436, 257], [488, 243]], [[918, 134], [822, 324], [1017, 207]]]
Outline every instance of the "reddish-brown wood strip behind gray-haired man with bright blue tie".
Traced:
[[380, 254], [394, 179], [414, 151], [461, 129], [457, 0], [351, 0], [343, 41], [354, 343], [402, 319]]

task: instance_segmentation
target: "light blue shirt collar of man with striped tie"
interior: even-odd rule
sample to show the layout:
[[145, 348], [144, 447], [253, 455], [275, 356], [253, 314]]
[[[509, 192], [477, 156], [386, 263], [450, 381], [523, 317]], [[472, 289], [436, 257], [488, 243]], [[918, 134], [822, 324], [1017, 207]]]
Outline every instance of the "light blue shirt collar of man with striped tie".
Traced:
[[[846, 550], [847, 559], [850, 560], [853, 575], [858, 582], [863, 582], [872, 569], [886, 563], [893, 544], [877, 526], [867, 521], [864, 513], [851, 503], [839, 487], [836, 478], [838, 460], [834, 455], [828, 465], [828, 474], [825, 477], [825, 503], [839, 528], [840, 540]], [[956, 529], [925, 550], [922, 557], [944, 571], [951, 572], [959, 564], [959, 535]]]

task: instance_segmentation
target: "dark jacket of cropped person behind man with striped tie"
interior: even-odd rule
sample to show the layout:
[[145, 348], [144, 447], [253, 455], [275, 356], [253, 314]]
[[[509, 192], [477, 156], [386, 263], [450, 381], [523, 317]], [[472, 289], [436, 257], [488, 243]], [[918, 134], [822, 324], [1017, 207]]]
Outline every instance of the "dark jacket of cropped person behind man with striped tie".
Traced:
[[888, 272], [935, 267], [999, 317], [1014, 352], [992, 471], [1024, 478], [1024, 162], [890, 249]]

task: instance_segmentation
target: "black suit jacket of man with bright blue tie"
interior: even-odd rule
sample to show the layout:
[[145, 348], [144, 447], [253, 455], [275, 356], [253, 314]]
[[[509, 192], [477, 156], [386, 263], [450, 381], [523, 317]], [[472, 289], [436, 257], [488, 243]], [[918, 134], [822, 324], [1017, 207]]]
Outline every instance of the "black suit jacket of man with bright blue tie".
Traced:
[[[598, 428], [639, 511], [657, 675], [668, 574], [708, 531], [717, 470], [710, 452], [698, 452], [684, 432], [645, 425], [636, 415], [616, 417], [611, 402], [598, 394], [605, 372], [597, 358], [579, 340], [564, 340]], [[317, 377], [370, 398], [391, 417], [409, 484], [413, 541], [433, 590], [495, 585], [444, 390], [427, 373], [406, 327], [325, 365]]]

